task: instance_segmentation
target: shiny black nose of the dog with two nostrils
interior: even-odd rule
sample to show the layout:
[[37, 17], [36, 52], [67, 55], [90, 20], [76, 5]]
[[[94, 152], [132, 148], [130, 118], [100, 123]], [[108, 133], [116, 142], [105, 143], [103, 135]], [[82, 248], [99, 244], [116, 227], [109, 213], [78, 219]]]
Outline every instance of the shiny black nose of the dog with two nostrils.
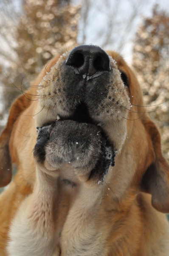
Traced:
[[107, 53], [100, 47], [94, 45], [75, 47], [68, 55], [66, 65], [78, 69], [83, 77], [88, 76], [90, 78], [94, 74], [98, 74], [98, 71], [111, 70], [110, 59]]

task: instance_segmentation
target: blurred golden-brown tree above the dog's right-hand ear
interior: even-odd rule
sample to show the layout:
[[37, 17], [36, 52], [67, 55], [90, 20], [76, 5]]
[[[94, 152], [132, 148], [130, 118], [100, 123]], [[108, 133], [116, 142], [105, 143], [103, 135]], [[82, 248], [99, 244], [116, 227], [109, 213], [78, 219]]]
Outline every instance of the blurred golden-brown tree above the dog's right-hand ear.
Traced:
[[161, 131], [162, 149], [169, 160], [169, 14], [155, 5], [152, 17], [138, 28], [133, 68], [144, 93], [146, 112]]

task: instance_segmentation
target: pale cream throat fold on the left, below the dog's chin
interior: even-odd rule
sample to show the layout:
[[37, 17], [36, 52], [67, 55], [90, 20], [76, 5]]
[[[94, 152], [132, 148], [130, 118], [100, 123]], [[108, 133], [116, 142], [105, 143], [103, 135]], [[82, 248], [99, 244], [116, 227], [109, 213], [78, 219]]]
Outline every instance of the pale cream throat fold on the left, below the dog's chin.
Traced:
[[10, 256], [59, 255], [54, 243], [53, 206], [57, 198], [57, 177], [37, 168], [34, 192], [25, 199], [11, 226]]

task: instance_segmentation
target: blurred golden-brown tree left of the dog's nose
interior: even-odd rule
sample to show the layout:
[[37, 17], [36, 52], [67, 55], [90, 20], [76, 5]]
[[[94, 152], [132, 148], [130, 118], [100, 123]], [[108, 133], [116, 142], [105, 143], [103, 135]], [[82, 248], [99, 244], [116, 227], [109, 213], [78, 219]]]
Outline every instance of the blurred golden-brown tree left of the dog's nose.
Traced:
[[70, 0], [22, 0], [22, 8], [17, 10], [12, 0], [7, 1], [8, 8], [6, 0], [1, 6], [5, 22], [2, 19], [0, 26], [1, 41], [7, 46], [7, 50], [0, 50], [0, 76], [6, 86], [3, 113], [20, 93], [15, 87], [11, 90], [13, 85], [18, 89], [21, 85], [29, 86], [60, 47], [65, 49], [76, 44], [80, 8], [71, 5]]

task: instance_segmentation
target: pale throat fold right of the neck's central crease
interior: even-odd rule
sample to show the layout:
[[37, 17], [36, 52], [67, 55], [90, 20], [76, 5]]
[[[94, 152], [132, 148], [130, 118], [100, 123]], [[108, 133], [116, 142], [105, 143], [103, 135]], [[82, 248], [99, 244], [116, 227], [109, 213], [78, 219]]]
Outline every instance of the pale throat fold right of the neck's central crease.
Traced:
[[[85, 182], [62, 230], [62, 256], [101, 256], [104, 254], [103, 229], [98, 227], [102, 185], [88, 187]], [[104, 226], [104, 215], [101, 223]]]

